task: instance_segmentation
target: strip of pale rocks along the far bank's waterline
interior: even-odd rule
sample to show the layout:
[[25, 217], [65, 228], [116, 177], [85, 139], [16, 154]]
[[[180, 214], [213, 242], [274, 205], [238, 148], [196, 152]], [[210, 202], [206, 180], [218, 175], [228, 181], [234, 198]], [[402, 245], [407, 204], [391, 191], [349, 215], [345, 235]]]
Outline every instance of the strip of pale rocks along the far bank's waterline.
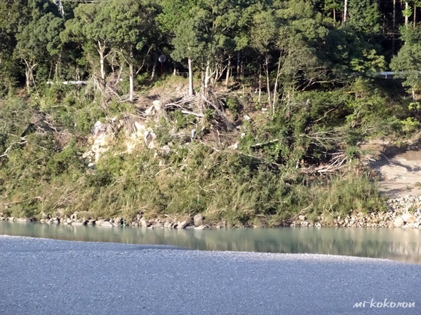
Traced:
[[[385, 212], [363, 214], [361, 212], [338, 218], [326, 218], [320, 216], [318, 221], [307, 220], [307, 217], [300, 215], [295, 220], [283, 223], [282, 226], [290, 227], [342, 227], [342, 228], [421, 228], [421, 195], [406, 196], [387, 200]], [[195, 229], [205, 230], [208, 228], [254, 228], [253, 226], [229, 225], [226, 221], [219, 223], [206, 223], [206, 218], [201, 214], [194, 217], [183, 218], [153, 218], [148, 219], [138, 214], [135, 218], [91, 218], [82, 216], [77, 211], [64, 218], [60, 214], [51, 216], [42, 213], [41, 218], [14, 218], [5, 217], [0, 213], [0, 221], [9, 222], [33, 222], [63, 225], [97, 225], [105, 227], [133, 227], [133, 228], [171, 228], [171, 229]]]

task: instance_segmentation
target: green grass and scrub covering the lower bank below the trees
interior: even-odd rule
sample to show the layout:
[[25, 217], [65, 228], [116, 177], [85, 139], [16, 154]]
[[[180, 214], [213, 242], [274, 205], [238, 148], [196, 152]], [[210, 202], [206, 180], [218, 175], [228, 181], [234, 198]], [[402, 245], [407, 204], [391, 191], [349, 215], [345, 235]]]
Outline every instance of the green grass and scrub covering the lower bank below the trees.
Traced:
[[[83, 211], [128, 221], [137, 214], [182, 218], [201, 213], [208, 222], [278, 226], [301, 214], [316, 221], [322, 214], [335, 218], [382, 211], [375, 181], [357, 163], [347, 162], [331, 175], [297, 169], [326, 162], [329, 150], [340, 149], [349, 161], [358, 161], [357, 144], [369, 134], [401, 137], [406, 132], [401, 123], [408, 115], [405, 106], [370, 86], [360, 80], [348, 88], [302, 92], [270, 120], [254, 116], [251, 122], [236, 119], [261, 106], [243, 91], [240, 100], [232, 95], [225, 110], [243, 133], [229, 136], [237, 137], [239, 150], [215, 150], [206, 142], [214, 127], [212, 113], [203, 143], [172, 139], [169, 130], [189, 132], [196, 123], [194, 116], [173, 111], [169, 123], [154, 126], [161, 145], [172, 143], [168, 155], [145, 148], [121, 154], [125, 145], [117, 137], [95, 169], [81, 158], [88, 149], [86, 135], [95, 121], [123, 116], [133, 106], [111, 102], [104, 108], [67, 87], [46, 90], [41, 97], [6, 97], [0, 102], [0, 153], [7, 151], [0, 158], [0, 212], [39, 217], [43, 211]], [[40, 125], [44, 120], [48, 124]], [[48, 130], [51, 126], [55, 130]], [[314, 139], [328, 130], [334, 130], [335, 139]]]

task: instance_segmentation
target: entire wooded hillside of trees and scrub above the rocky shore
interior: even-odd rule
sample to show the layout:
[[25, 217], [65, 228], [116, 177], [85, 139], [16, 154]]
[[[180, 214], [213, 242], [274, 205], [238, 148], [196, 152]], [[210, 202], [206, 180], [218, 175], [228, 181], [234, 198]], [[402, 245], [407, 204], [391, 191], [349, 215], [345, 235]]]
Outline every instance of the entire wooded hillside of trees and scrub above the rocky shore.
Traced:
[[[420, 136], [420, 7], [1, 1], [0, 211], [233, 226], [383, 211], [361, 144]], [[91, 163], [97, 122], [115, 139]], [[168, 151], [122, 153], [135, 122]]]

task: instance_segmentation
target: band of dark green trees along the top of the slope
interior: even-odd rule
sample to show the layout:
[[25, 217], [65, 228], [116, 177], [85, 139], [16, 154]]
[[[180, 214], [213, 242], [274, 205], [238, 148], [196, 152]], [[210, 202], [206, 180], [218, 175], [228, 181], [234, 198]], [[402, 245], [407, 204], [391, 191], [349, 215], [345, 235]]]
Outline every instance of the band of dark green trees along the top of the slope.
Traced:
[[[23, 81], [31, 88], [53, 77], [94, 78], [103, 90], [109, 80], [126, 78], [133, 100], [137, 77], [153, 77], [164, 52], [167, 70], [188, 70], [190, 94], [194, 73], [202, 92], [222, 76], [228, 85], [263, 74], [265, 84], [258, 84], [272, 106], [285, 89], [386, 70], [400, 47], [392, 68], [407, 69], [419, 39], [403, 33], [417, 29], [419, 6], [376, 0], [6, 0], [0, 3], [0, 85], [6, 90]], [[399, 27], [402, 36], [396, 36]]]

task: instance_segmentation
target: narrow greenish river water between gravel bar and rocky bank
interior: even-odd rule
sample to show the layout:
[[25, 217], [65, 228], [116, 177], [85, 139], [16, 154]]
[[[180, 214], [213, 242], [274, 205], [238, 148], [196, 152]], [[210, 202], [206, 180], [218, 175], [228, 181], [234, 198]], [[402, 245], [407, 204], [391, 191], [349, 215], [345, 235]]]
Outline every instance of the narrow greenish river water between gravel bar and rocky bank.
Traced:
[[417, 229], [150, 230], [0, 222], [0, 235], [126, 244], [168, 244], [206, 251], [352, 255], [421, 264], [421, 230]]

